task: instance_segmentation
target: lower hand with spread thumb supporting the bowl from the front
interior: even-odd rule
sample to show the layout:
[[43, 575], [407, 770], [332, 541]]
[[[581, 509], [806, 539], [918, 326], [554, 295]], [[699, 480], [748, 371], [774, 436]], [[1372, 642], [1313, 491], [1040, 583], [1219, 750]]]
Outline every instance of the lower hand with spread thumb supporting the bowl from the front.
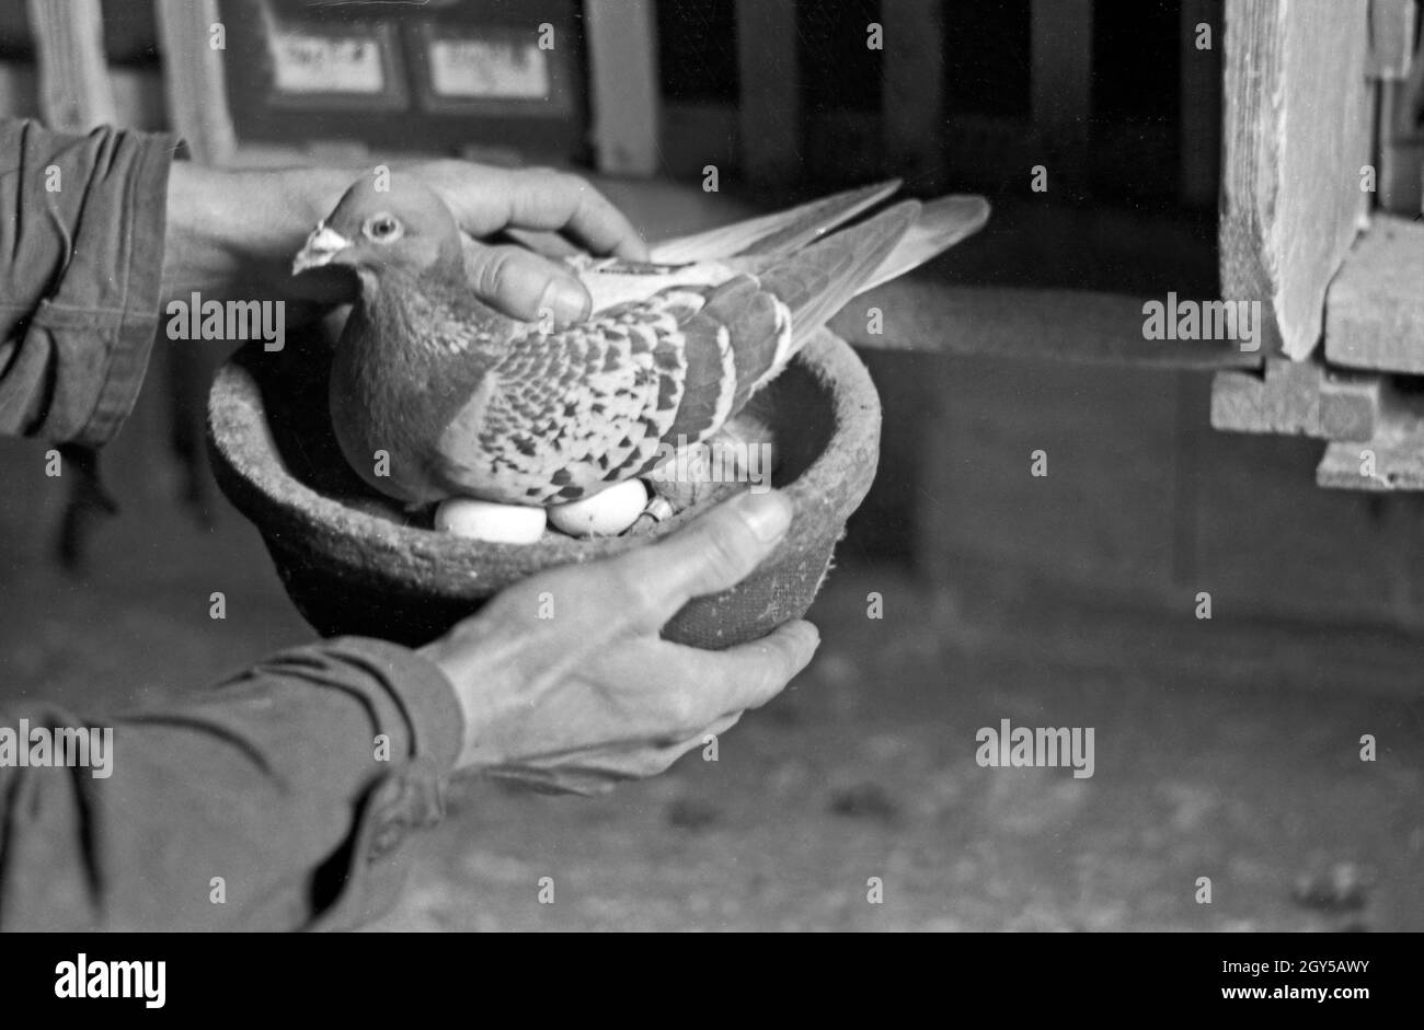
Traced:
[[464, 711], [457, 767], [595, 794], [661, 772], [780, 693], [816, 652], [810, 623], [725, 652], [658, 632], [691, 598], [745, 579], [790, 508], [743, 494], [658, 543], [533, 576], [423, 647]]

